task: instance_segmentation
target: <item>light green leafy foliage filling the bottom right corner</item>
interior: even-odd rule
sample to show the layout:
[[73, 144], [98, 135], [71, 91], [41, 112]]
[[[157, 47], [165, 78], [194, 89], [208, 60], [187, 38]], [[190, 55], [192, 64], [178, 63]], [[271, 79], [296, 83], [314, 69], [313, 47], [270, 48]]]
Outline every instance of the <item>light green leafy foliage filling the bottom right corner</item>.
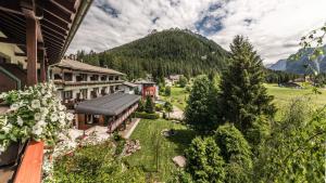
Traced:
[[313, 109], [297, 99], [274, 122], [260, 146], [256, 182], [323, 182], [325, 171], [325, 107]]

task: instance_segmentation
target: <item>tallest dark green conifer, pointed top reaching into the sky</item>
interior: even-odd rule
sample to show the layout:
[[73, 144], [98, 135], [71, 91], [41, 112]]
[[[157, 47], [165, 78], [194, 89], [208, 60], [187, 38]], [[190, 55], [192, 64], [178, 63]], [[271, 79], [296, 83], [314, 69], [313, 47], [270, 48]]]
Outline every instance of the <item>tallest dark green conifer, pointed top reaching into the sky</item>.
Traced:
[[255, 132], [267, 127], [265, 119], [272, 119], [276, 109], [263, 86], [262, 60], [248, 39], [236, 36], [230, 50], [230, 65], [221, 80], [217, 114], [220, 121], [235, 123], [252, 143], [258, 138]]

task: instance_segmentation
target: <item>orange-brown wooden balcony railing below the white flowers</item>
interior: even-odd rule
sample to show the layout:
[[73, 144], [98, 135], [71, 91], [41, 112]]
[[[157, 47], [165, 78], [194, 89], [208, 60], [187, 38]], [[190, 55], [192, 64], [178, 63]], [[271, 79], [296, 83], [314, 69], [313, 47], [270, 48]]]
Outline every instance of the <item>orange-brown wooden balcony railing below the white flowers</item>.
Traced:
[[43, 162], [43, 142], [32, 141], [27, 144], [14, 183], [40, 183]]

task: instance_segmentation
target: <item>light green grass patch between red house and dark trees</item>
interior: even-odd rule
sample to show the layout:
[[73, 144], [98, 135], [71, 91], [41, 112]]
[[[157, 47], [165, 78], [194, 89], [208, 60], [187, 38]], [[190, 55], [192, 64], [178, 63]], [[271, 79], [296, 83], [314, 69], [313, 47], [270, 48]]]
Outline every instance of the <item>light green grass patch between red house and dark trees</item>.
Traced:
[[187, 105], [188, 93], [185, 88], [171, 87], [171, 96], [161, 96], [162, 100], [171, 101], [173, 105], [177, 106], [181, 110], [185, 110]]

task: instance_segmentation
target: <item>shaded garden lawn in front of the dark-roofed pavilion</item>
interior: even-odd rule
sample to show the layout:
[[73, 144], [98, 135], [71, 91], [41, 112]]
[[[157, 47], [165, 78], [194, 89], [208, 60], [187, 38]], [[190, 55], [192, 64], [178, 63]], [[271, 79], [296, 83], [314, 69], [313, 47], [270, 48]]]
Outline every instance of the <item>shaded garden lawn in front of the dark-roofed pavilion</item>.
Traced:
[[[161, 135], [163, 129], [172, 128], [176, 131], [174, 136]], [[195, 132], [184, 125], [164, 119], [141, 119], [130, 136], [130, 139], [140, 141], [141, 149], [126, 157], [126, 161], [131, 167], [141, 167], [158, 181], [166, 181], [171, 178], [172, 172], [177, 170], [172, 158], [184, 155], [185, 148], [190, 144], [193, 136]]]

